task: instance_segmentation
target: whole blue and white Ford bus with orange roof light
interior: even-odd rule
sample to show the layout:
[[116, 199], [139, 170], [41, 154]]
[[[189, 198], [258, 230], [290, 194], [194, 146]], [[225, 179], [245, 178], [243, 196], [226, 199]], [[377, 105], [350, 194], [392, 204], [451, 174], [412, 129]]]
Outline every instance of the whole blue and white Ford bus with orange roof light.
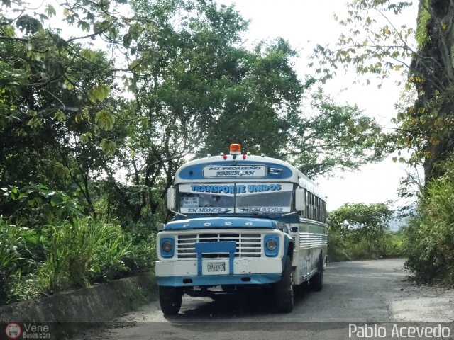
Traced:
[[321, 290], [326, 201], [287, 162], [231, 145], [180, 167], [167, 208], [175, 217], [157, 234], [155, 267], [164, 314], [179, 312], [184, 293], [213, 296], [217, 286], [269, 285], [279, 312], [292, 311], [294, 285]]

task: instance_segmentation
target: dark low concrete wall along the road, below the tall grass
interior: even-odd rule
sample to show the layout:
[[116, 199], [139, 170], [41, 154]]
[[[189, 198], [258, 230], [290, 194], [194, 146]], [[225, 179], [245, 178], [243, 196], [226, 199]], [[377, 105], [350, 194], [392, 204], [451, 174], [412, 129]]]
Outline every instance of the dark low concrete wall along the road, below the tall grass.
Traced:
[[123, 278], [49, 297], [0, 306], [0, 323], [50, 324], [57, 336], [70, 336], [87, 327], [109, 322], [156, 300], [153, 273]]

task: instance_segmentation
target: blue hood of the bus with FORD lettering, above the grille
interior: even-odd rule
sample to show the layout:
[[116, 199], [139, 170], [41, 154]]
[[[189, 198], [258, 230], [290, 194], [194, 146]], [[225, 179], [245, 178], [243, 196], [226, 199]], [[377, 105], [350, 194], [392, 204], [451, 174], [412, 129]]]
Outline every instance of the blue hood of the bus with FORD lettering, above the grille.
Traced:
[[277, 222], [275, 220], [252, 217], [204, 217], [172, 221], [167, 223], [164, 230], [170, 231], [210, 228], [277, 229]]

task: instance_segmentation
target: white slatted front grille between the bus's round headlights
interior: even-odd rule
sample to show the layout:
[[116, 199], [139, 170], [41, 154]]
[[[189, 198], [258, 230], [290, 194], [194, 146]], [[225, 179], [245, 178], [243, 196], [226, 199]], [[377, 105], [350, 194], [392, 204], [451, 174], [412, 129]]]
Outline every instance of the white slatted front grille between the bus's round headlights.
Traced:
[[[195, 244], [199, 242], [236, 242], [235, 257], [260, 257], [262, 256], [261, 234], [238, 234], [238, 233], [201, 233], [181, 234], [177, 237], [178, 259], [196, 259]], [[202, 254], [204, 259], [228, 258], [228, 254]]]

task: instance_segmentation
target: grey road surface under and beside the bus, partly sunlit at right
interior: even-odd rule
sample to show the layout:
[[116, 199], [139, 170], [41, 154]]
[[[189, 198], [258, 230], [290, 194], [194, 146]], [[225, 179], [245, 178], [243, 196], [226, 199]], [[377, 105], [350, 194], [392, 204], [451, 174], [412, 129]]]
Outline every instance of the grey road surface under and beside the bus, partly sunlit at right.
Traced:
[[175, 317], [164, 317], [153, 302], [77, 339], [298, 339], [301, 329], [309, 339], [311, 331], [312, 339], [345, 339], [342, 322], [454, 322], [454, 291], [406, 280], [403, 265], [402, 259], [330, 263], [323, 290], [299, 292], [291, 314], [276, 314], [266, 294], [184, 297]]

